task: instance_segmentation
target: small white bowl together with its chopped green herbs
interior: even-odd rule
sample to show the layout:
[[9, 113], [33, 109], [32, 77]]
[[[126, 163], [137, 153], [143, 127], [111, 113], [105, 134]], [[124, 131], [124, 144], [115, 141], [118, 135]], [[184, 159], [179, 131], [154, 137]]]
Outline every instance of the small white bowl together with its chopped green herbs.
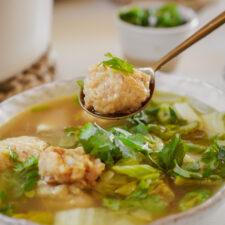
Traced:
[[[126, 5], [116, 16], [122, 53], [135, 67], [149, 67], [194, 33], [198, 15], [189, 7], [158, 1]], [[163, 71], [175, 69], [178, 58]]]

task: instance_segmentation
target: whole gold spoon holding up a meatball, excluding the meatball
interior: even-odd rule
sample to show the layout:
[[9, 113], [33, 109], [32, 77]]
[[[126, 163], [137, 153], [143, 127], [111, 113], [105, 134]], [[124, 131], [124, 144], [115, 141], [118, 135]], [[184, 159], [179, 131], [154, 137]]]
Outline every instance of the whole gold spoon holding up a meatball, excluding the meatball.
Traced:
[[80, 92], [80, 105], [81, 107], [91, 114], [92, 116], [101, 118], [101, 119], [107, 119], [107, 120], [120, 120], [120, 119], [125, 119], [127, 117], [131, 117], [140, 111], [142, 111], [148, 103], [151, 101], [151, 98], [154, 93], [154, 88], [155, 88], [155, 72], [159, 70], [163, 65], [165, 65], [167, 62], [169, 62], [171, 59], [182, 53], [184, 50], [192, 46], [194, 43], [197, 41], [201, 40], [211, 32], [213, 32], [215, 29], [217, 29], [219, 26], [223, 25], [225, 23], [225, 11], [222, 12], [219, 16], [211, 20], [208, 24], [206, 24], [204, 27], [199, 29], [196, 33], [194, 33], [191, 37], [186, 39], [183, 43], [178, 45], [176, 48], [174, 48], [172, 51], [170, 51], [167, 55], [165, 55], [163, 58], [161, 58], [155, 65], [152, 67], [145, 67], [145, 68], [139, 68], [139, 70], [149, 74], [151, 76], [151, 81], [149, 84], [149, 89], [150, 89], [150, 95], [149, 98], [143, 102], [142, 106], [136, 110], [135, 112], [132, 113], [127, 113], [127, 114], [121, 114], [121, 113], [114, 113], [114, 114], [101, 114], [96, 112], [95, 110], [90, 110], [85, 107], [85, 102], [84, 102], [84, 93], [83, 90]]

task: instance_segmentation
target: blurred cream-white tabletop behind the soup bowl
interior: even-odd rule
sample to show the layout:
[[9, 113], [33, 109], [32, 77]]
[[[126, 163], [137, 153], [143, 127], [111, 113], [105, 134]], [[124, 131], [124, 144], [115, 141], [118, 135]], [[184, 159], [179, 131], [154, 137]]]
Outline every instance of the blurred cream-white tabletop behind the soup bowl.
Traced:
[[[57, 56], [57, 79], [87, 73], [90, 64], [106, 52], [121, 56], [114, 26], [118, 5], [109, 0], [57, 1], [53, 15], [52, 43]], [[199, 13], [200, 26], [225, 10], [225, 0]], [[173, 74], [199, 78], [225, 90], [225, 25], [183, 53]]]

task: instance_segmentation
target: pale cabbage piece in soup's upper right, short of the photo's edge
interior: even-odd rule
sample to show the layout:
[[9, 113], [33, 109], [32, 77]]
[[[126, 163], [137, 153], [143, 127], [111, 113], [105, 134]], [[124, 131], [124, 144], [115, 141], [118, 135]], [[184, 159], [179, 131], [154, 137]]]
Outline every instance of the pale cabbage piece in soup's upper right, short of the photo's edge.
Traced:
[[187, 102], [175, 103], [174, 110], [180, 118], [187, 120], [189, 123], [194, 121], [201, 122], [201, 118]]

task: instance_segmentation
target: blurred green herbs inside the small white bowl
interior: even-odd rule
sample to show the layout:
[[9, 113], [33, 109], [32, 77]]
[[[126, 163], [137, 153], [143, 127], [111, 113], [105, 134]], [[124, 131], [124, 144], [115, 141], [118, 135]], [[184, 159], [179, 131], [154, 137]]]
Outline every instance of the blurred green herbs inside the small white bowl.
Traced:
[[128, 10], [122, 9], [119, 13], [121, 20], [143, 27], [176, 27], [187, 21], [182, 17], [178, 6], [174, 3], [162, 5], [157, 9], [134, 7]]

